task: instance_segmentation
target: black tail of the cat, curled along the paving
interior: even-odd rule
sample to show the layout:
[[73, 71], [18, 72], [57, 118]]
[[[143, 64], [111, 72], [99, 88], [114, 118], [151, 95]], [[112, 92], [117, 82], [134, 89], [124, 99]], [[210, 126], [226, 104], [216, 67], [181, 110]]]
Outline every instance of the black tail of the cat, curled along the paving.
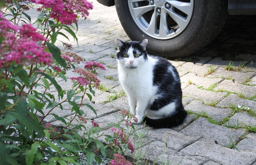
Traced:
[[154, 128], [170, 128], [177, 125], [180, 125], [184, 119], [187, 116], [187, 112], [182, 109], [180, 109], [176, 114], [166, 117], [166, 118], [159, 118], [159, 119], [151, 119], [148, 117], [144, 117], [144, 121], [146, 122], [146, 125]]

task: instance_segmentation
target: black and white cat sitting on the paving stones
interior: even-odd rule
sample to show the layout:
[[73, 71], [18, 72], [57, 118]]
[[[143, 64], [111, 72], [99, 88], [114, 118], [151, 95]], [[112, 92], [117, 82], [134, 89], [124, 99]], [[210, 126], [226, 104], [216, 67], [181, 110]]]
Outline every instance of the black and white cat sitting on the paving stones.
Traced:
[[179, 74], [162, 57], [148, 55], [147, 39], [116, 39], [119, 81], [128, 95], [132, 114], [154, 128], [179, 125], [187, 115], [182, 105]]

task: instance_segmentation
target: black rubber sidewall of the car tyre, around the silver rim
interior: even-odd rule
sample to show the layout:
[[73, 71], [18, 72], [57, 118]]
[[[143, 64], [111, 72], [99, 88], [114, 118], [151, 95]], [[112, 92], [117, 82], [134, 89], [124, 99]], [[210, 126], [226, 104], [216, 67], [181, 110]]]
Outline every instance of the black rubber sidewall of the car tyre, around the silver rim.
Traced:
[[[209, 0], [194, 0], [193, 13], [187, 27], [178, 36], [168, 39], [159, 40], [146, 35], [134, 22], [127, 0], [115, 0], [116, 10], [119, 20], [131, 40], [148, 39], [147, 50], [149, 53], [162, 56], [181, 57], [193, 53], [193, 48], [197, 47], [198, 42], [202, 42], [204, 29], [207, 27], [210, 14]], [[170, 55], [170, 53], [176, 53]]]

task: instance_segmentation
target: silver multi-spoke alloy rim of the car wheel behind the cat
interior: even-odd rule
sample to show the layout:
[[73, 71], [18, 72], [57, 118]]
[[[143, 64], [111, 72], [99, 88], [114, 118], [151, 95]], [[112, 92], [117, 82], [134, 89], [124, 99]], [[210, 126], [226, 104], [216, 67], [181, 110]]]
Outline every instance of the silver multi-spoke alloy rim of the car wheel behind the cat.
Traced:
[[181, 34], [193, 12], [193, 0], [128, 0], [128, 5], [137, 26], [160, 40]]

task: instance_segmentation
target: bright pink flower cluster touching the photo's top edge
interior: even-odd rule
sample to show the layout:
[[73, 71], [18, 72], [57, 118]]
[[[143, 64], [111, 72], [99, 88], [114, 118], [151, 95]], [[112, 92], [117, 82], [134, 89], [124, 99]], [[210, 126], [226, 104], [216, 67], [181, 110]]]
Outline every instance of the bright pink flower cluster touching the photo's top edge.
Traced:
[[51, 8], [50, 17], [66, 25], [76, 23], [77, 14], [86, 19], [88, 10], [93, 8], [92, 3], [87, 0], [38, 0], [37, 4]]

